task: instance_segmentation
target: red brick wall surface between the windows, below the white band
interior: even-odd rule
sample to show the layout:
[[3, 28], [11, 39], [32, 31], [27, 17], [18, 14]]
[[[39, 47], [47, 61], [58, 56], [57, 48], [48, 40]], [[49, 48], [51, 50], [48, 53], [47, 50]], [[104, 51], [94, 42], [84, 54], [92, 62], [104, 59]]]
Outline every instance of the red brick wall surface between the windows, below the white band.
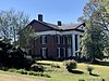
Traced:
[[35, 45], [32, 50], [33, 55], [39, 56], [40, 55], [40, 49], [41, 48], [47, 48], [48, 49], [48, 57], [57, 57], [57, 48], [68, 48], [70, 44], [57, 44], [57, 36], [51, 36], [48, 35], [47, 36], [47, 43], [46, 44], [41, 44], [40, 43], [40, 37], [35, 41], [35, 43], [33, 44]]

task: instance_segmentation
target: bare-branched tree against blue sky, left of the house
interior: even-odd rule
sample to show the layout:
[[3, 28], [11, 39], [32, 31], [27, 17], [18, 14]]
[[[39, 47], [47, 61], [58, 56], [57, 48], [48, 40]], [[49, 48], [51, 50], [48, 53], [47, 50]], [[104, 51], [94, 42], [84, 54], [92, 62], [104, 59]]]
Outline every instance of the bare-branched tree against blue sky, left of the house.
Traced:
[[17, 31], [28, 24], [28, 16], [24, 12], [13, 9], [0, 11], [0, 36], [4, 39], [16, 41]]

